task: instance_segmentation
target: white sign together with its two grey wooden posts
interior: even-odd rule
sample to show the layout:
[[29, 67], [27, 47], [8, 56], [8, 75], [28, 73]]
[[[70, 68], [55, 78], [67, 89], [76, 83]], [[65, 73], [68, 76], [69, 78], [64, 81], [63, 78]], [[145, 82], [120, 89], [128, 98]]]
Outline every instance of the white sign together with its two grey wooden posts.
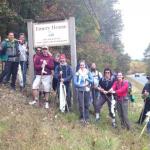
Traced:
[[[27, 20], [28, 27], [28, 44], [29, 44], [29, 75], [30, 83], [34, 77], [33, 55], [35, 47], [42, 46], [65, 46], [70, 45], [71, 65], [73, 73], [76, 71], [77, 54], [76, 54], [76, 32], [75, 18], [54, 22], [33, 23]], [[74, 106], [76, 105], [75, 89], [73, 87]], [[75, 106], [76, 107], [76, 106]]]

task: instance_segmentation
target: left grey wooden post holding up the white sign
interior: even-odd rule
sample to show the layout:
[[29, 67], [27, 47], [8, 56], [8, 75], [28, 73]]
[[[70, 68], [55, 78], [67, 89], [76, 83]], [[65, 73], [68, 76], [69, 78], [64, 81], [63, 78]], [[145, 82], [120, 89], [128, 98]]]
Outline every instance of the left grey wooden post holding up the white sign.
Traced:
[[28, 29], [28, 45], [29, 45], [29, 83], [32, 84], [34, 78], [34, 65], [33, 65], [33, 20], [27, 19], [27, 29]]

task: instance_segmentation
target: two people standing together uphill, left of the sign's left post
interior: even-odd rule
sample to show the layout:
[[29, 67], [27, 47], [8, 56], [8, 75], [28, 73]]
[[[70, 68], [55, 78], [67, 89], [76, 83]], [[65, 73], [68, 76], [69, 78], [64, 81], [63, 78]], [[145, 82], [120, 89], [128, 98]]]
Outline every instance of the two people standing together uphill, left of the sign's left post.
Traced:
[[15, 39], [13, 32], [8, 32], [8, 38], [0, 41], [0, 59], [5, 62], [4, 70], [0, 74], [0, 83], [8, 83], [11, 78], [11, 88], [16, 89], [18, 66], [21, 66], [23, 82], [20, 88], [26, 85], [26, 72], [28, 61], [28, 47], [25, 34], [20, 33]]

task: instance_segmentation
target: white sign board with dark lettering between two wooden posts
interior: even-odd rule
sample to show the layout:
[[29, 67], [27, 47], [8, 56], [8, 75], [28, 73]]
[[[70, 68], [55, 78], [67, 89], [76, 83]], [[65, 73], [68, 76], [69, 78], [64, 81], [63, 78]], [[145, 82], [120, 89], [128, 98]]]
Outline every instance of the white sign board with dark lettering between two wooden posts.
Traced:
[[34, 47], [69, 45], [69, 23], [59, 22], [34, 23]]

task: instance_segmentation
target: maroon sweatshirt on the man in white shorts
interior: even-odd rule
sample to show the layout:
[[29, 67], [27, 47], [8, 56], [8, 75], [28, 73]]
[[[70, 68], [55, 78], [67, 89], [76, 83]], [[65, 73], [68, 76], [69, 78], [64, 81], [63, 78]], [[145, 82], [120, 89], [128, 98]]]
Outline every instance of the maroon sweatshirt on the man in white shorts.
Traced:
[[41, 55], [36, 55], [36, 57], [34, 57], [33, 62], [34, 62], [35, 73], [36, 75], [41, 75], [41, 72], [42, 72], [41, 66], [42, 66], [43, 60], [47, 62], [47, 65], [45, 66], [45, 71], [47, 73], [44, 75], [50, 75], [51, 71], [54, 69], [54, 59], [50, 55], [44, 56], [41, 54]]

